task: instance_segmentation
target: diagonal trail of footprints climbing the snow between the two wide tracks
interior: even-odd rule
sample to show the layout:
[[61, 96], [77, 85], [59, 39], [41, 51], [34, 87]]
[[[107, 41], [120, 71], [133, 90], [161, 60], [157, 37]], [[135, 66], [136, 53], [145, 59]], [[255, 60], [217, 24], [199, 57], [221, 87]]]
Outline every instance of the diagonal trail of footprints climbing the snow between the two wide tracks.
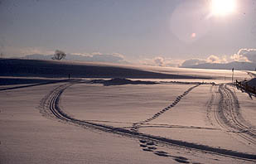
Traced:
[[137, 132], [138, 131], [138, 128], [140, 127], [141, 124], [143, 123], [148, 123], [148, 122], [151, 122], [152, 120], [158, 118], [159, 116], [161, 116], [163, 113], [166, 113], [168, 110], [170, 110], [171, 108], [175, 107], [176, 104], [178, 104], [181, 99], [186, 96], [186, 94], [189, 94], [189, 92], [192, 90], [192, 89], [195, 89], [196, 87], [198, 87], [200, 84], [196, 84], [195, 86], [192, 86], [191, 88], [187, 89], [183, 94], [179, 95], [176, 97], [175, 101], [170, 104], [169, 106], [167, 106], [166, 108], [160, 110], [158, 113], [155, 113], [151, 118], [147, 118], [143, 121], [140, 121], [138, 123], [133, 123], [133, 127], [131, 128], [131, 130]]

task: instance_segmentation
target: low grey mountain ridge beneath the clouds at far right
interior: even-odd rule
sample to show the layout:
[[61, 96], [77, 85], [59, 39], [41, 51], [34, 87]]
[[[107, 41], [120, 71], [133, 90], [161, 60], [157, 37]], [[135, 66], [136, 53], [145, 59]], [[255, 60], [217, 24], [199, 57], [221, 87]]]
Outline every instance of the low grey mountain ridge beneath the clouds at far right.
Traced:
[[204, 63], [198, 65], [186, 65], [181, 68], [213, 69], [213, 70], [255, 70], [256, 63], [233, 61], [230, 63]]

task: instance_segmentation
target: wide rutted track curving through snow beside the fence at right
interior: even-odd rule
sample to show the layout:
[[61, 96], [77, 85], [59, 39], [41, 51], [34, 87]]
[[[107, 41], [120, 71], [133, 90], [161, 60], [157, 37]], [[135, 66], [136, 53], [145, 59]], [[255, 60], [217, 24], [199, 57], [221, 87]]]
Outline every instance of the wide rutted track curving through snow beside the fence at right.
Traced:
[[[214, 91], [211, 90], [212, 96], [207, 108], [207, 118], [210, 119], [210, 111], [213, 110], [213, 116], [220, 128], [225, 132], [235, 134], [242, 141], [255, 145], [255, 129], [244, 120], [239, 112], [239, 100], [234, 92], [227, 88], [226, 84], [215, 85], [214, 89]], [[212, 108], [214, 102], [217, 103], [215, 109]]]

